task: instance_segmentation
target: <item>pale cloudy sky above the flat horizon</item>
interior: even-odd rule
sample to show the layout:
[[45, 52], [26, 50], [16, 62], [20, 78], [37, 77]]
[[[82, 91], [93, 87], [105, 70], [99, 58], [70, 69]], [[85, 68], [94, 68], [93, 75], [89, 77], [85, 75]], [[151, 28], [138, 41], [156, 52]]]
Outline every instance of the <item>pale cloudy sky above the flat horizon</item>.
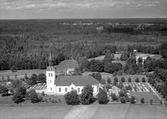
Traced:
[[0, 0], [0, 19], [167, 18], [167, 0]]

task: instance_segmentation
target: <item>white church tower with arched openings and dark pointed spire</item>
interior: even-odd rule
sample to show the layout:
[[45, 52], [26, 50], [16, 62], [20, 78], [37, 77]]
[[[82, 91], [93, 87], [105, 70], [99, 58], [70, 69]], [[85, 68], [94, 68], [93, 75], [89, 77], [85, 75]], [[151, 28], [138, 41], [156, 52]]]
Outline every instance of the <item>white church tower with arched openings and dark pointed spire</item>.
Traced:
[[55, 86], [55, 77], [56, 77], [56, 69], [53, 66], [52, 54], [49, 54], [49, 66], [46, 69], [46, 92], [48, 94], [54, 94], [56, 92]]

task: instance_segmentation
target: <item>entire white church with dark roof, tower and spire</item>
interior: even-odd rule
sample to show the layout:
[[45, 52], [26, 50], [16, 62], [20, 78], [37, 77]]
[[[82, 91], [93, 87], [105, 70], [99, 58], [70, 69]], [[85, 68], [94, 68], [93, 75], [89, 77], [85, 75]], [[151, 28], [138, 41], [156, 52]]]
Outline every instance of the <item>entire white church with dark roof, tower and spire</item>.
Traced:
[[49, 56], [49, 66], [46, 69], [46, 93], [50, 95], [64, 95], [71, 90], [81, 94], [84, 86], [91, 85], [93, 94], [99, 91], [99, 82], [91, 76], [59, 76], [52, 65], [52, 56]]

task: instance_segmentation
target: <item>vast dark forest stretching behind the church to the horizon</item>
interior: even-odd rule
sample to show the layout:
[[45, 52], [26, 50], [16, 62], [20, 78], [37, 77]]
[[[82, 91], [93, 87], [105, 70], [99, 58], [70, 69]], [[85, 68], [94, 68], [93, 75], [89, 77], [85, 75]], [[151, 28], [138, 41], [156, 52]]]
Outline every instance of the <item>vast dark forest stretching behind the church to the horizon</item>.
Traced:
[[[132, 28], [113, 29], [106, 25], [112, 22], [109, 19], [87, 21], [96, 24], [63, 25], [84, 20], [0, 20], [0, 70], [45, 69], [49, 52], [53, 54], [54, 65], [65, 59], [105, 55], [108, 50], [111, 53], [134, 49], [144, 53], [162, 53], [159, 48], [166, 41], [166, 27], [161, 28], [158, 20], [153, 22], [157, 29], [152, 26], [135, 34]], [[96, 30], [101, 25], [104, 30]], [[149, 34], [148, 31], [153, 32]]]

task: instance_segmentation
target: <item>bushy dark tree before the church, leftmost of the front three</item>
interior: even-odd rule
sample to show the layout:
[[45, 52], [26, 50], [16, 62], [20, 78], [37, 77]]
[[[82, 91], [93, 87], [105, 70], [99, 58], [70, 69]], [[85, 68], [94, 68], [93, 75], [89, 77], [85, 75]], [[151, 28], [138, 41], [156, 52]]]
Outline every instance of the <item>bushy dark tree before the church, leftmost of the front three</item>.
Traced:
[[64, 95], [64, 99], [68, 105], [79, 105], [79, 95], [76, 90], [72, 90]]

